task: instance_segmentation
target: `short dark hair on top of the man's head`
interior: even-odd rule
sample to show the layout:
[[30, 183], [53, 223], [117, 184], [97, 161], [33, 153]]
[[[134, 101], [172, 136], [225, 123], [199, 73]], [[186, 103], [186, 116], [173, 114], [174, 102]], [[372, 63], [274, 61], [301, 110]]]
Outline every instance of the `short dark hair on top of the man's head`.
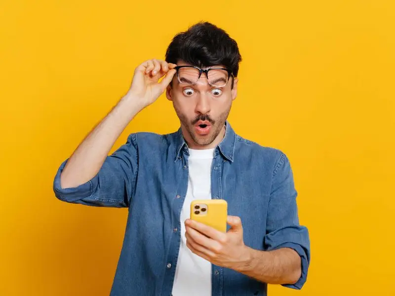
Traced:
[[183, 60], [199, 68], [224, 65], [236, 77], [241, 55], [236, 40], [223, 29], [209, 22], [199, 22], [174, 36], [167, 47], [165, 60], [173, 64]]

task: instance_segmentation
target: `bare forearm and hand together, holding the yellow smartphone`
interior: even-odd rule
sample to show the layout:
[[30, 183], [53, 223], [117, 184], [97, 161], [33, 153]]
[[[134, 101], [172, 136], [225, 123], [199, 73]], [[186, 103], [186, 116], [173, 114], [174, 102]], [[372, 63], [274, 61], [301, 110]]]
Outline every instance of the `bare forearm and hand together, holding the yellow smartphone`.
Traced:
[[294, 284], [301, 276], [301, 258], [294, 250], [280, 248], [258, 251], [244, 245], [241, 220], [228, 216], [231, 229], [220, 232], [187, 219], [185, 236], [188, 248], [209, 262], [234, 269], [269, 284]]

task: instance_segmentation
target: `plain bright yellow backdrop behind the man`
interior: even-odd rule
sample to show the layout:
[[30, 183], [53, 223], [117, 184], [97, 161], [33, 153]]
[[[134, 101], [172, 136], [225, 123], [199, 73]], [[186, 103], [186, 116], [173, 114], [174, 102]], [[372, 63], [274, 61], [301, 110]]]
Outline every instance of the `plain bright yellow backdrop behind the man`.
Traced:
[[[127, 210], [61, 202], [53, 177], [134, 68], [199, 20], [237, 40], [229, 120], [288, 155], [310, 230], [305, 287], [270, 295], [395, 295], [394, 1], [2, 0], [1, 296], [109, 294]], [[113, 149], [178, 126], [162, 95]]]

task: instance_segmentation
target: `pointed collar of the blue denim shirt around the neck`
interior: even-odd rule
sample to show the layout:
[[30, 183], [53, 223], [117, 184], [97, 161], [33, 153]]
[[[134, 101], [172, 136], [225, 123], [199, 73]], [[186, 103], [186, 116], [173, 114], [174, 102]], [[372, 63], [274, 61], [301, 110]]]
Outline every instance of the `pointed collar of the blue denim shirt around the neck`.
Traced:
[[[224, 139], [222, 139], [221, 143], [218, 144], [218, 148], [221, 151], [222, 155], [228, 159], [229, 161], [233, 162], [233, 156], [235, 153], [235, 145], [236, 145], [236, 133], [231, 127], [230, 123], [228, 120], [225, 122], [225, 136]], [[182, 135], [182, 130], [181, 127], [178, 129], [176, 132], [176, 143], [175, 143], [175, 160], [181, 159], [182, 155], [182, 149], [184, 149], [186, 154], [189, 154], [188, 152], [188, 145], [185, 142], [184, 136]]]

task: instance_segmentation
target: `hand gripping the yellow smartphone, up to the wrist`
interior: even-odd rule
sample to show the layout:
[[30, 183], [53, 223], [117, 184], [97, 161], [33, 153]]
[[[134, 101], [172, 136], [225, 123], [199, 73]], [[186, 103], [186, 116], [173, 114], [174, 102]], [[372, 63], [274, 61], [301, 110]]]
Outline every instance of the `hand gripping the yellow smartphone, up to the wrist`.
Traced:
[[237, 216], [228, 216], [227, 222], [231, 229], [223, 233], [203, 223], [187, 219], [187, 246], [193, 253], [215, 265], [235, 270], [243, 269], [250, 260], [250, 252], [243, 242], [241, 220]]

